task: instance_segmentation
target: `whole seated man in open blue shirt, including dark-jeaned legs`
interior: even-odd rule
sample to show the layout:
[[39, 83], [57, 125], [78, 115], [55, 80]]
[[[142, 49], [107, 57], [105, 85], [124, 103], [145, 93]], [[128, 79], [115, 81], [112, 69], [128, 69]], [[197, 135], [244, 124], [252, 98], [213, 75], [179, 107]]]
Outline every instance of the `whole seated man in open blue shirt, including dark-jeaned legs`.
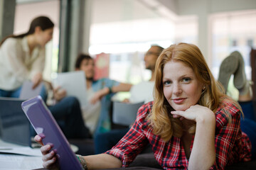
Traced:
[[[86, 106], [81, 107], [77, 98], [66, 96], [65, 89], [60, 86], [53, 89], [55, 104], [48, 106], [54, 118], [58, 121], [67, 138], [88, 138], [94, 135], [95, 130], [110, 129], [110, 97], [118, 91], [129, 91], [132, 84], [123, 84], [110, 79], [94, 80], [94, 60], [89, 55], [78, 55], [75, 62], [76, 71], [85, 72], [86, 79]], [[78, 82], [79, 83], [79, 82]], [[46, 101], [46, 93], [43, 96]], [[64, 120], [61, 125], [61, 120]]]

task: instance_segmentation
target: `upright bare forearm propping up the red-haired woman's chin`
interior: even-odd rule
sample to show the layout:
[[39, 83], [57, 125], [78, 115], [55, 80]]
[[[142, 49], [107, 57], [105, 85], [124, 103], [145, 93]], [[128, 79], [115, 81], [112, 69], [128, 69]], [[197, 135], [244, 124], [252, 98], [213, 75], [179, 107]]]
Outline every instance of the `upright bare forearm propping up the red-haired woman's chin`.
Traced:
[[215, 115], [196, 122], [188, 169], [210, 169], [215, 162]]

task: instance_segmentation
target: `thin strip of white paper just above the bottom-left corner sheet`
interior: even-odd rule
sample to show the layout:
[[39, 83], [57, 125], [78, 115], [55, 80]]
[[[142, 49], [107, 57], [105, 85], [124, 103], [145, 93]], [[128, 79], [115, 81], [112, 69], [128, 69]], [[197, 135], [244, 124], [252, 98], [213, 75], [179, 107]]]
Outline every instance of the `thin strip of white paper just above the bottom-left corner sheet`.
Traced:
[[40, 149], [31, 147], [0, 147], [0, 153], [23, 154], [34, 157], [42, 157]]

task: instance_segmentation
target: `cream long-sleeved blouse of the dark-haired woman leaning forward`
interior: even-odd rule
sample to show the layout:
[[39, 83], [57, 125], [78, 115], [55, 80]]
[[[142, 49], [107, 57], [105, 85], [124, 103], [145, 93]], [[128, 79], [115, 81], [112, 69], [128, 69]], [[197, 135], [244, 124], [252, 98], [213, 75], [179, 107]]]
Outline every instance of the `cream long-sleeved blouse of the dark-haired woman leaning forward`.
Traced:
[[0, 89], [17, 89], [26, 79], [42, 73], [45, 51], [45, 47], [36, 46], [30, 54], [26, 36], [6, 39], [0, 47]]

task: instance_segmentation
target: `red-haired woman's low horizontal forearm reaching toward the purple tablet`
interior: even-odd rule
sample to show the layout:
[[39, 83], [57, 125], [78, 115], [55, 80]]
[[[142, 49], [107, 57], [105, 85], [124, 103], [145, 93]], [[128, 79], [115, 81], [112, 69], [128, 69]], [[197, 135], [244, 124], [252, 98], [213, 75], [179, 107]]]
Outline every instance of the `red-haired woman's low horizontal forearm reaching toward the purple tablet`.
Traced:
[[113, 169], [120, 168], [122, 162], [110, 154], [95, 154], [84, 157], [88, 169]]

